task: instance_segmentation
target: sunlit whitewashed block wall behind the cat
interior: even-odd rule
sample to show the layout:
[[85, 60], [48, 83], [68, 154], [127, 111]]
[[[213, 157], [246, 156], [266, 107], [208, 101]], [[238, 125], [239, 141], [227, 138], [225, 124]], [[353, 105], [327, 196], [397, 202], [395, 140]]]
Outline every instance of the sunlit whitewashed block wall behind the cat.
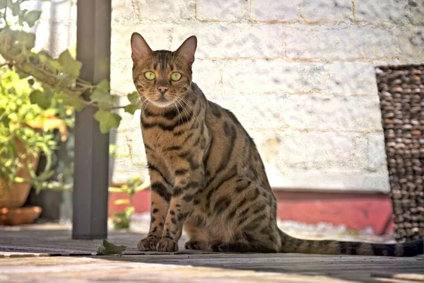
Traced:
[[[80, 0], [81, 1], [81, 0]], [[424, 0], [112, 0], [112, 89], [134, 91], [131, 33], [198, 37], [194, 81], [257, 142], [271, 185], [388, 192], [375, 66], [424, 62]], [[63, 13], [59, 29], [69, 24]], [[65, 17], [64, 17], [65, 16]], [[114, 181], [146, 174], [124, 115]]]

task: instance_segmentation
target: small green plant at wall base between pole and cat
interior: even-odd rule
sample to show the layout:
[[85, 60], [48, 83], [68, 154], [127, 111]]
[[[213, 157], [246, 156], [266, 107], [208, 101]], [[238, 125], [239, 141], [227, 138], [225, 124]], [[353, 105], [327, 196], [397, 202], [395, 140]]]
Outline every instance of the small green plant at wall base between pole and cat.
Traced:
[[123, 192], [127, 195], [126, 198], [115, 200], [114, 204], [126, 204], [124, 212], [115, 212], [112, 219], [114, 229], [129, 229], [131, 223], [131, 215], [134, 214], [135, 208], [133, 198], [136, 192], [146, 190], [149, 186], [148, 181], [141, 180], [139, 177], [134, 177], [121, 187], [109, 187], [109, 192]]

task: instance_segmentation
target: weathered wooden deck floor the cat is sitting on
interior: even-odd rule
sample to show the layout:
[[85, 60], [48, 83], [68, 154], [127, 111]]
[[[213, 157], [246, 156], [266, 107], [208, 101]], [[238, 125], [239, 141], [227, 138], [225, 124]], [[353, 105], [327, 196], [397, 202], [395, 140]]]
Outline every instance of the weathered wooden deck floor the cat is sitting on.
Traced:
[[423, 256], [140, 253], [142, 236], [110, 233], [129, 246], [119, 257], [95, 255], [101, 241], [69, 229], [0, 229], [0, 282], [424, 282]]

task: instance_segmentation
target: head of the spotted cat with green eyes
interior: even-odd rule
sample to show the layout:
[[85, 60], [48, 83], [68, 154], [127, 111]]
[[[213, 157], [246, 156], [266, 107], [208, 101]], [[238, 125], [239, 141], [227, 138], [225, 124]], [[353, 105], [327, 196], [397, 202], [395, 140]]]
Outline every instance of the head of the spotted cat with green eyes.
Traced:
[[140, 96], [148, 103], [166, 108], [184, 99], [192, 83], [192, 64], [197, 39], [193, 35], [174, 52], [151, 50], [146, 40], [131, 35], [133, 79]]

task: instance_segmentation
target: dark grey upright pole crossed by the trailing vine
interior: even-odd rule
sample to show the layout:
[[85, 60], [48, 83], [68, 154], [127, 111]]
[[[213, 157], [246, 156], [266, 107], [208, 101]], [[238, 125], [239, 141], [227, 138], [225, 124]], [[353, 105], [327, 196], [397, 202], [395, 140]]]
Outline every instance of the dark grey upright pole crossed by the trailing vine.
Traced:
[[[77, 2], [76, 56], [83, 63], [81, 79], [98, 83], [110, 79], [111, 0]], [[100, 133], [86, 107], [76, 113], [73, 175], [72, 238], [107, 237], [109, 134]]]

